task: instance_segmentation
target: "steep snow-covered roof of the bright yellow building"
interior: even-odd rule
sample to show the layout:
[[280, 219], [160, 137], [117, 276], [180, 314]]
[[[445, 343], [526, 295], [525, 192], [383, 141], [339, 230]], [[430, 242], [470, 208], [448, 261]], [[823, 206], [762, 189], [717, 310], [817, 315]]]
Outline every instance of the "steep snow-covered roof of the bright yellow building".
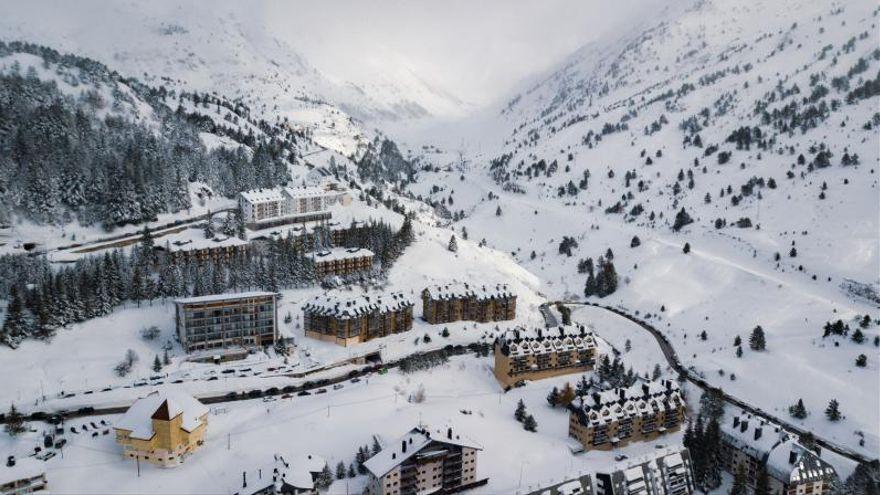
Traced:
[[191, 395], [170, 388], [156, 390], [135, 401], [115, 428], [130, 431], [132, 438], [149, 440], [155, 434], [153, 419], [170, 421], [181, 414], [181, 427], [191, 432], [201, 424], [201, 417], [208, 414], [208, 408]]

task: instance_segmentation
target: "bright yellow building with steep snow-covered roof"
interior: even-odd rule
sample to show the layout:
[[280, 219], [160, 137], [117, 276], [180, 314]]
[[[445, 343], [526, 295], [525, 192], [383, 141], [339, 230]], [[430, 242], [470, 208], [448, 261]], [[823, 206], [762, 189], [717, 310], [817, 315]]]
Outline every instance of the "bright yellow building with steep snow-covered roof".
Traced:
[[138, 399], [114, 427], [122, 455], [172, 467], [205, 442], [208, 408], [170, 390]]

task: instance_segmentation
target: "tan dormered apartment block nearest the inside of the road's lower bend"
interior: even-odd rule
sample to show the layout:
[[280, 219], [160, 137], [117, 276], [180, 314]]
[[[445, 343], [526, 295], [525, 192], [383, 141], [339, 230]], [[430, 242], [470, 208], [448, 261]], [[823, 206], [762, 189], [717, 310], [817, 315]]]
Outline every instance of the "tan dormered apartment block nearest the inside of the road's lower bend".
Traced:
[[672, 380], [636, 383], [575, 399], [569, 406], [569, 436], [584, 450], [611, 450], [678, 431], [685, 402]]

